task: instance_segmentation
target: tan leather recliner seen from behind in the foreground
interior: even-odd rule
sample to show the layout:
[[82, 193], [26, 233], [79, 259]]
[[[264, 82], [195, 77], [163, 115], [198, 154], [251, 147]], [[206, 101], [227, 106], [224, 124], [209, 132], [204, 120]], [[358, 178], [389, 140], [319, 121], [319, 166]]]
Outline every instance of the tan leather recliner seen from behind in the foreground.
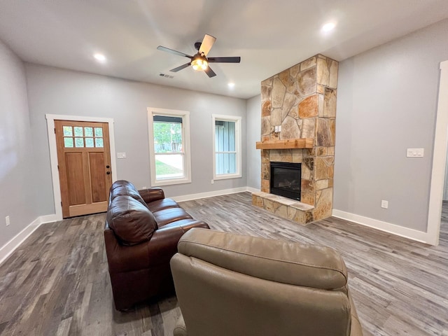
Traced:
[[175, 336], [363, 335], [332, 248], [193, 229], [178, 250]]

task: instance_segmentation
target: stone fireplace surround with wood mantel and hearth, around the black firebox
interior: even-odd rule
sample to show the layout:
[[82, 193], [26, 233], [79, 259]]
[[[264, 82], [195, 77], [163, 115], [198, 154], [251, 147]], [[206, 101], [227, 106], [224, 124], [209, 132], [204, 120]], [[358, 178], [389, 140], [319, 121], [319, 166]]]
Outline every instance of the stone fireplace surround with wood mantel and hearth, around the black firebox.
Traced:
[[[261, 83], [261, 192], [253, 204], [307, 224], [332, 214], [338, 62], [316, 55]], [[271, 162], [301, 164], [300, 202], [271, 193]]]

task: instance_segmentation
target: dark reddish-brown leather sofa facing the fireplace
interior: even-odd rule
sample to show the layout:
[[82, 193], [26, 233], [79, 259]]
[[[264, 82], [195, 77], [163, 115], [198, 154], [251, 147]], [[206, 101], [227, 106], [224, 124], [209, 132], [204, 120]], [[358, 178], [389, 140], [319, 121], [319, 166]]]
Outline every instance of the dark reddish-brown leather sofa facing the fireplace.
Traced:
[[104, 241], [116, 309], [174, 293], [169, 260], [190, 228], [209, 225], [165, 198], [161, 188], [137, 191], [128, 181], [113, 183]]

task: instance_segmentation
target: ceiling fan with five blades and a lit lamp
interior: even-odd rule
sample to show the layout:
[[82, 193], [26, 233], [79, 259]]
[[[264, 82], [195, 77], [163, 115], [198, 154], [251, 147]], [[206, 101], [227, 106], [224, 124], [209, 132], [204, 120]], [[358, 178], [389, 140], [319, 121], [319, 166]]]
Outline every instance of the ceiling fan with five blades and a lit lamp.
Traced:
[[194, 56], [190, 56], [187, 54], [184, 54], [183, 52], [172, 50], [166, 47], [162, 47], [162, 45], [159, 45], [157, 48], [158, 50], [170, 52], [174, 55], [179, 55], [183, 57], [188, 57], [191, 59], [190, 62], [183, 64], [181, 66], [178, 66], [177, 68], [171, 69], [172, 72], [177, 72], [179, 70], [185, 69], [188, 66], [192, 66], [193, 69], [197, 71], [204, 71], [207, 73], [207, 76], [214, 77], [216, 76], [216, 73], [214, 73], [213, 70], [211, 70], [209, 63], [239, 63], [241, 62], [241, 57], [207, 57], [207, 54], [209, 53], [211, 47], [214, 45], [216, 41], [216, 38], [214, 36], [205, 34], [204, 39], [202, 42], [196, 42], [195, 48], [197, 50], [197, 54]]

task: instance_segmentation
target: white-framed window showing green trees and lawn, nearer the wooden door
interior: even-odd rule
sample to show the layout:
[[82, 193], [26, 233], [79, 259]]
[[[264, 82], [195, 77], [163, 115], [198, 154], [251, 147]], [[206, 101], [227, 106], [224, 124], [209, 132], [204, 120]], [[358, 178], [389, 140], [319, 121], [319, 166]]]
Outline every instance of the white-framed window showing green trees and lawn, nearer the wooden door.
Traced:
[[148, 109], [151, 185], [189, 183], [190, 113]]

